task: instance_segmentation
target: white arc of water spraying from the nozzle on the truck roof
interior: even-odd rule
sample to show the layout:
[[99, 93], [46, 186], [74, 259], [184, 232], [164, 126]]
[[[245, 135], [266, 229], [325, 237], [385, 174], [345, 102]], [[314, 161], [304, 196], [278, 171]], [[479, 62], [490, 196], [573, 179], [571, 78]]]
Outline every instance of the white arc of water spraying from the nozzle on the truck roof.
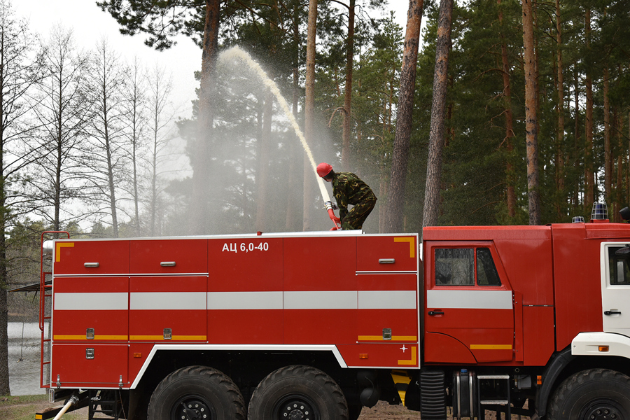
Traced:
[[293, 113], [290, 111], [290, 108], [286, 103], [286, 99], [284, 99], [284, 97], [280, 93], [278, 85], [276, 85], [274, 80], [267, 76], [267, 73], [265, 73], [260, 64], [255, 62], [251, 58], [251, 56], [244, 50], [241, 50], [241, 48], [232, 47], [229, 50], [225, 50], [224, 52], [222, 52], [219, 56], [219, 62], [223, 62], [224, 60], [228, 59], [241, 59], [242, 61], [244, 61], [251, 69], [258, 73], [258, 76], [260, 77], [260, 79], [262, 79], [262, 83], [264, 83], [265, 86], [275, 95], [276, 100], [282, 107], [284, 113], [286, 114], [286, 117], [289, 119], [293, 130], [295, 130], [297, 138], [300, 139], [300, 143], [302, 143], [302, 147], [304, 148], [304, 152], [306, 152], [309, 158], [309, 162], [311, 162], [311, 167], [313, 168], [313, 172], [316, 176], [319, 190], [321, 192], [321, 197], [325, 203], [326, 211], [328, 211], [328, 216], [330, 216], [330, 220], [332, 220], [332, 223], [335, 224], [335, 227], [332, 228], [332, 230], [340, 229], [341, 225], [339, 224], [339, 218], [335, 217], [335, 212], [332, 209], [332, 202], [330, 200], [330, 195], [328, 195], [328, 190], [326, 190], [324, 181], [317, 175], [317, 164], [315, 163], [315, 159], [313, 158], [313, 153], [311, 153], [311, 148], [309, 148], [309, 144], [307, 144], [306, 138], [304, 137], [304, 134], [302, 134], [302, 130], [300, 130], [300, 126], [297, 125], [295, 116], [293, 116]]

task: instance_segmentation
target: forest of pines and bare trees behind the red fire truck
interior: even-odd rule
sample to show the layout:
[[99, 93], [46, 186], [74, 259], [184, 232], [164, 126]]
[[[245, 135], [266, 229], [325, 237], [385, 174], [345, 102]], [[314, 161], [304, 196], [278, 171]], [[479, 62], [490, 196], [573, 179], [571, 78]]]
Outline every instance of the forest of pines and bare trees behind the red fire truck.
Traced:
[[[165, 1], [155, 15], [142, 13], [142, 0], [99, 2], [123, 33], [153, 48], [185, 34], [209, 52], [191, 115], [175, 118], [164, 69], [125, 62], [106, 38], [85, 51], [64, 27], [38, 36], [0, 0], [0, 344], [11, 308], [36, 314], [25, 304], [32, 296], [8, 300], [6, 290], [39, 278], [44, 230], [78, 238], [330, 228], [314, 171], [277, 102], [243, 63], [216, 60], [234, 45], [279, 85], [307, 125], [316, 160], [372, 186], [379, 200], [366, 232], [389, 231], [394, 214], [397, 231], [421, 232], [435, 169], [437, 223], [430, 224], [588, 220], [594, 202], [607, 203], [619, 221], [630, 197], [630, 3], [458, 0], [449, 10], [448, 2], [409, 2], [426, 27], [416, 74], [402, 83], [403, 28], [392, 15], [374, 18], [387, 8], [379, 1], [190, 0], [178, 8]], [[524, 38], [526, 3], [533, 48]], [[450, 23], [436, 137], [440, 8]], [[309, 27], [317, 39], [310, 97]], [[398, 99], [409, 89], [400, 181], [392, 179], [400, 163]], [[183, 154], [173, 148], [178, 137]], [[431, 141], [442, 153], [437, 168], [427, 163]], [[182, 172], [188, 162], [192, 172]], [[402, 193], [395, 206], [392, 190]], [[0, 395], [9, 393], [2, 347]]]

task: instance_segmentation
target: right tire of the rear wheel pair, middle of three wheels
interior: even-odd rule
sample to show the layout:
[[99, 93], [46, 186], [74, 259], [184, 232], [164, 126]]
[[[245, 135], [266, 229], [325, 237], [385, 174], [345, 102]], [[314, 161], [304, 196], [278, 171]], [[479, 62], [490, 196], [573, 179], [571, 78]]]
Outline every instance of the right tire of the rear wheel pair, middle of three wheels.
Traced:
[[249, 402], [249, 420], [348, 420], [341, 388], [315, 367], [282, 367], [262, 379]]

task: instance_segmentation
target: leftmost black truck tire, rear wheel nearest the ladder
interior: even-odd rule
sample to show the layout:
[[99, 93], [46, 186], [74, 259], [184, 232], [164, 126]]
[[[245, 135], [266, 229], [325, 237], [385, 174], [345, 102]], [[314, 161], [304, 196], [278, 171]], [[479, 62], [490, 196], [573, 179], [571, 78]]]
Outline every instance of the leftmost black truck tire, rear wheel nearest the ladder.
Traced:
[[148, 420], [245, 418], [239, 388], [230, 377], [206, 366], [182, 367], [169, 374], [153, 391], [148, 406]]

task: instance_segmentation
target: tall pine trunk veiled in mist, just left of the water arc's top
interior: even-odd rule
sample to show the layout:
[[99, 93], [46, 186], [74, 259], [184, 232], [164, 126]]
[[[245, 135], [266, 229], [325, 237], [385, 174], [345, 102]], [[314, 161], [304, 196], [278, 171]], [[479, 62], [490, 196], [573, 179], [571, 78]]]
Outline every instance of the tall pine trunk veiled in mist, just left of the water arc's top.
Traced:
[[193, 167], [193, 198], [190, 202], [190, 233], [209, 233], [208, 214], [211, 141], [214, 125], [214, 69], [218, 49], [218, 27], [220, 0], [205, 0], [204, 40], [202, 48], [202, 71], [199, 92], [199, 115], [196, 152], [191, 158]]

